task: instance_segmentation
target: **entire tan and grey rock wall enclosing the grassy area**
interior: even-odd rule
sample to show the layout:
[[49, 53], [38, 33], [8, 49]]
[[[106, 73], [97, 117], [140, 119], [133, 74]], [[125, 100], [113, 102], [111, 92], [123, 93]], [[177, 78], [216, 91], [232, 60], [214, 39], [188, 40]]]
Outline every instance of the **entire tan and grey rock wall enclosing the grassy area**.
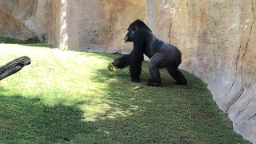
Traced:
[[234, 130], [256, 143], [255, 0], [0, 0], [0, 34], [60, 48], [130, 51], [140, 18], [182, 50], [182, 68], [202, 78]]

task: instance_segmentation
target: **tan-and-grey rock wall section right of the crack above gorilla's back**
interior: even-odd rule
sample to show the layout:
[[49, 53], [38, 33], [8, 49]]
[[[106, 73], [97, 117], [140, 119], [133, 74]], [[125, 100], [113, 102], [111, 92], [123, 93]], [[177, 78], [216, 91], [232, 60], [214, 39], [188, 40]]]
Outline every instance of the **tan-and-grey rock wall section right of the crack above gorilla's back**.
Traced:
[[169, 38], [182, 50], [182, 67], [208, 83], [234, 130], [256, 143], [256, 2], [196, 0], [169, 5]]

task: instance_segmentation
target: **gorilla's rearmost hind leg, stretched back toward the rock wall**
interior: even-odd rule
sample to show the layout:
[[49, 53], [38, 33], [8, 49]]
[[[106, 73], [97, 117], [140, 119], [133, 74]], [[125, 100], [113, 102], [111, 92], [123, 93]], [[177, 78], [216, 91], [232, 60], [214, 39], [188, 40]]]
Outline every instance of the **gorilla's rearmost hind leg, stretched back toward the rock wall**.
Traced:
[[178, 85], [186, 85], [186, 78], [182, 72], [178, 70], [178, 67], [169, 66], [167, 71], [176, 80]]

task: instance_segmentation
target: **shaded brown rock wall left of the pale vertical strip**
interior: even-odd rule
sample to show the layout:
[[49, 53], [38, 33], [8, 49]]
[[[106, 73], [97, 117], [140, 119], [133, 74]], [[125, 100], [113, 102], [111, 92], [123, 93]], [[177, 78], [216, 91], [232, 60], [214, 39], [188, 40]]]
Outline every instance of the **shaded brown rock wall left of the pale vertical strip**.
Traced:
[[0, 36], [58, 44], [58, 1], [0, 0]]

